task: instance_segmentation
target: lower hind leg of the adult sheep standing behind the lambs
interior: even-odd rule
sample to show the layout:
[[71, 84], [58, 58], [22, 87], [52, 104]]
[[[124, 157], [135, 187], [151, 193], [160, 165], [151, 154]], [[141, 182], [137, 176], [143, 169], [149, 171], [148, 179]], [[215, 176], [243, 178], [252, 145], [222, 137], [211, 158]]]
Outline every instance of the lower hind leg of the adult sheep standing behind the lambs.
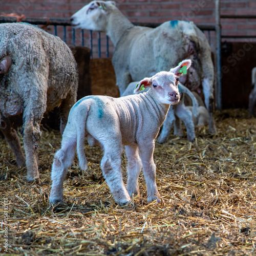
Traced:
[[214, 94], [212, 92], [213, 88], [210, 87], [210, 82], [208, 78], [204, 78], [202, 80], [202, 87], [204, 92], [205, 105], [209, 112], [209, 132], [217, 133], [215, 120], [214, 120]]

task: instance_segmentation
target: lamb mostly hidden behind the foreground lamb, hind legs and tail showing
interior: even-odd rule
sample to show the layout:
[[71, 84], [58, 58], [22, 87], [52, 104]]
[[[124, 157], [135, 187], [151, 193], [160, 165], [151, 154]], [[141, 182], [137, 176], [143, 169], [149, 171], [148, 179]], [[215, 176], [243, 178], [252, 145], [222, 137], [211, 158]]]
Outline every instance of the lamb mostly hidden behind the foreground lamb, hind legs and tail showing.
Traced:
[[[134, 88], [137, 83], [138, 82], [131, 82], [121, 96], [127, 96], [127, 95], [133, 94]], [[193, 116], [197, 117], [198, 116], [198, 101], [197, 101], [196, 97], [194, 96], [194, 94], [192, 92], [190, 92], [181, 83], [178, 83], [178, 89], [179, 89], [179, 93], [181, 95], [183, 93], [186, 93], [191, 98], [191, 100], [193, 102]], [[143, 92], [143, 91], [140, 91], [140, 92]], [[172, 126], [174, 124], [176, 124], [175, 125], [175, 134], [182, 136], [181, 126], [179, 125], [179, 120], [177, 120], [177, 118], [178, 119], [180, 118], [185, 123], [186, 130], [187, 130], [187, 139], [189, 141], [193, 141], [196, 138], [193, 116], [184, 104], [184, 97], [181, 97], [181, 100], [178, 104], [170, 105], [166, 119], [163, 123], [163, 128], [162, 128], [161, 134], [158, 137], [157, 142], [162, 144], [168, 139], [170, 130], [172, 129]]]

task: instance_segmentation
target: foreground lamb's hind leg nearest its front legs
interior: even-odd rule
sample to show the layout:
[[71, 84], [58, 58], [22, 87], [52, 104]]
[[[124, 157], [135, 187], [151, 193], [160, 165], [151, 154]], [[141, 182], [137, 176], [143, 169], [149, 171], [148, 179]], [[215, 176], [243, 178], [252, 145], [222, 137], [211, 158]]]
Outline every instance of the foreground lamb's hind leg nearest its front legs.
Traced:
[[103, 145], [104, 156], [101, 160], [101, 169], [115, 201], [120, 206], [123, 206], [128, 204], [131, 198], [124, 186], [122, 178], [121, 143], [115, 143], [115, 140], [111, 142], [110, 145]]

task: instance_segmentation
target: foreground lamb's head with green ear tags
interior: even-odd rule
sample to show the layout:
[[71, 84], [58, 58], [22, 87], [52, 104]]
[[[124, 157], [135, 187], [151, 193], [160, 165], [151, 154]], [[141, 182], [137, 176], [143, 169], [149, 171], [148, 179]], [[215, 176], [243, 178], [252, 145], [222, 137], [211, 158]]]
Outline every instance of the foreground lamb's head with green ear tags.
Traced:
[[[186, 67], [184, 67], [186, 66]], [[191, 60], [185, 59], [179, 65], [169, 72], [161, 71], [150, 78], [141, 80], [134, 93], [139, 93], [143, 88], [150, 88], [154, 97], [162, 104], [177, 104], [180, 101], [180, 94], [178, 90], [179, 77], [183, 75], [184, 69], [191, 66]]]

